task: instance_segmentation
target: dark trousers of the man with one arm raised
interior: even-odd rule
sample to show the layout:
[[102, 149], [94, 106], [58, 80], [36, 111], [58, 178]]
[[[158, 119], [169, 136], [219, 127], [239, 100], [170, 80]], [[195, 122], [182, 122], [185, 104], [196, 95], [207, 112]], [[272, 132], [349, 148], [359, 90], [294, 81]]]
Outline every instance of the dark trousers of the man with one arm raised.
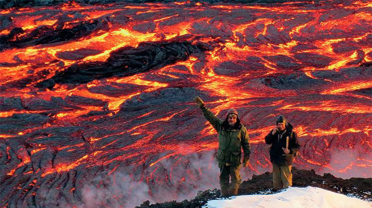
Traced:
[[242, 178], [240, 177], [240, 165], [224, 165], [222, 163], [219, 164], [220, 167], [220, 186], [221, 190], [229, 188], [229, 181], [231, 177], [231, 189], [239, 188], [239, 185], [242, 183]]

